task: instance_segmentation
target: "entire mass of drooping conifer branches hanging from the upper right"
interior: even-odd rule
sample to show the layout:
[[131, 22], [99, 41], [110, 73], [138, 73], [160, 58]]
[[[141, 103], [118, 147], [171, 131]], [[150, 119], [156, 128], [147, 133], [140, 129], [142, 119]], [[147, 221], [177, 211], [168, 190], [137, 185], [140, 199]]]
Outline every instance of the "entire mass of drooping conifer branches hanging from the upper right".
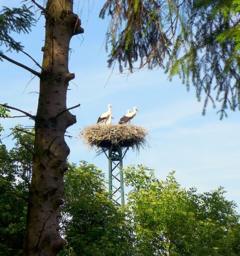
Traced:
[[111, 18], [109, 67], [165, 68], [204, 97], [203, 114], [212, 102], [222, 119], [240, 109], [239, 9], [236, 0], [108, 0], [100, 17]]

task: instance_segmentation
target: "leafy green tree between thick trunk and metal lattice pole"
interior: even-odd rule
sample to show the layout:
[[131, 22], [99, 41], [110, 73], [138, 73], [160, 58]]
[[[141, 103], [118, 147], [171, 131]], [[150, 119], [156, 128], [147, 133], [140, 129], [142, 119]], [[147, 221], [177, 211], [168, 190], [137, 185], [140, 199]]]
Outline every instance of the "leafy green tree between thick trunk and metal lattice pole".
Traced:
[[134, 255], [129, 221], [109, 199], [104, 183], [104, 174], [93, 164], [69, 165], [61, 208], [67, 247], [61, 255]]

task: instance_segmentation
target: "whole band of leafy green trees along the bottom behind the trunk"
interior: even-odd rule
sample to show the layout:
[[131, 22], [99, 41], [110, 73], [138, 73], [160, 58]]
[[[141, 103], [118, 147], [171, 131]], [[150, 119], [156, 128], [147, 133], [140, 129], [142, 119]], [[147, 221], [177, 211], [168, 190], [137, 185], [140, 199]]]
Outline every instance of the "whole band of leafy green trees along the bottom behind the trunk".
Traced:
[[[0, 254], [22, 255], [34, 135], [21, 126], [12, 132], [13, 149], [0, 146]], [[240, 255], [240, 216], [223, 188], [200, 194], [181, 188], [173, 171], [159, 180], [154, 170], [130, 166], [123, 211], [95, 165], [69, 164], [64, 179], [67, 243], [59, 255]]]

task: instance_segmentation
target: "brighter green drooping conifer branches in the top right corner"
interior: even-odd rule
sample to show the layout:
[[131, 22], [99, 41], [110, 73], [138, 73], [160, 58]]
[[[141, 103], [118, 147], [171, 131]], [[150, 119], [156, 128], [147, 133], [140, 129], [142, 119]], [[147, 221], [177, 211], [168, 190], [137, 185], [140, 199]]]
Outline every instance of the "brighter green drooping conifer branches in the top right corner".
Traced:
[[193, 1], [168, 61], [170, 78], [178, 74], [187, 88], [192, 83], [199, 101], [205, 95], [203, 115], [208, 102], [219, 102], [220, 119], [228, 108], [240, 109], [239, 11], [239, 1]]

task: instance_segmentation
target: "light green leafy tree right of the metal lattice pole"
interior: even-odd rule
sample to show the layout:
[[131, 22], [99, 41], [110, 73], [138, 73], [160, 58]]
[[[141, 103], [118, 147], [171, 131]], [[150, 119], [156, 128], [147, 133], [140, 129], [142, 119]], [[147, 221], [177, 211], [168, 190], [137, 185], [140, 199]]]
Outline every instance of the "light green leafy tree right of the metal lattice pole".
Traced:
[[240, 255], [240, 216], [219, 188], [197, 194], [174, 178], [158, 180], [145, 166], [125, 170], [139, 255]]

